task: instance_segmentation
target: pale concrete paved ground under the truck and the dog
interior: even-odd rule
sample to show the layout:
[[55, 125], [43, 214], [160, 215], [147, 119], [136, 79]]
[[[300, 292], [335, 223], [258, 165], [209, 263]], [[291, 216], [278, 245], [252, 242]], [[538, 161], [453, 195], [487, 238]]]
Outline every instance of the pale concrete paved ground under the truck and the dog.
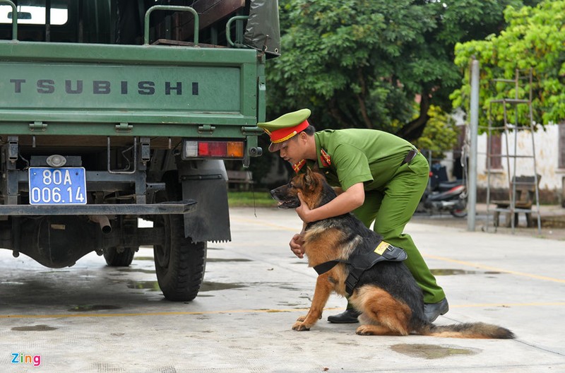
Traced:
[[339, 297], [311, 331], [292, 331], [316, 279], [287, 246], [299, 220], [235, 208], [233, 240], [210, 244], [193, 302], [162, 299], [150, 249], [130, 268], [90, 254], [60, 270], [0, 250], [0, 372], [565, 372], [565, 242], [443, 219], [407, 227], [448, 295], [436, 323], [499, 324], [516, 340], [356, 336], [326, 321]]

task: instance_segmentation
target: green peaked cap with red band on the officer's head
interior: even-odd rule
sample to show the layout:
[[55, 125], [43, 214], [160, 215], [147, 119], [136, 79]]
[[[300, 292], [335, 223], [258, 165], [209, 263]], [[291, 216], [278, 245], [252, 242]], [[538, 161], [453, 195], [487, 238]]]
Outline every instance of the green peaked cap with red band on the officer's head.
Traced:
[[280, 150], [283, 142], [304, 131], [309, 126], [308, 117], [310, 117], [310, 109], [300, 109], [297, 112], [281, 115], [270, 122], [258, 123], [257, 126], [270, 136], [269, 151], [272, 153]]

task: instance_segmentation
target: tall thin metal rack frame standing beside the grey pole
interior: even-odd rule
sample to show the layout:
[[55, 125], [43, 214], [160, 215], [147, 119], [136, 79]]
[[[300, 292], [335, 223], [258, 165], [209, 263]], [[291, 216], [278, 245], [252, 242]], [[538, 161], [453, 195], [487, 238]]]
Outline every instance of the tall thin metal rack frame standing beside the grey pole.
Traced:
[[[529, 95], [527, 99], [519, 97], [520, 91], [520, 83], [521, 81], [527, 79], [529, 83]], [[537, 232], [541, 233], [541, 219], [540, 219], [540, 191], [539, 191], [539, 179], [540, 175], [537, 174], [536, 168], [536, 159], [535, 159], [535, 141], [534, 141], [534, 131], [535, 131], [535, 122], [533, 121], [533, 111], [532, 111], [532, 70], [528, 71], [528, 74], [525, 76], [521, 76], [520, 71], [517, 69], [515, 77], [513, 79], [494, 79], [494, 82], [500, 83], [513, 83], [514, 85], [514, 97], [513, 98], [503, 98], [498, 100], [492, 100], [489, 103], [489, 124], [488, 124], [488, 143], [487, 143], [487, 230], [489, 229], [489, 222], [491, 219], [491, 214], [494, 213], [496, 216], [496, 221], [494, 221], [494, 232], [496, 232], [498, 228], [498, 215], [500, 213], [506, 213], [506, 216], [510, 218], [511, 229], [512, 233], [516, 230], [516, 216], [518, 213], [526, 213], [531, 214], [533, 209], [533, 204], [530, 208], [519, 208], [516, 207], [516, 186], [521, 183], [521, 177], [516, 176], [516, 170], [518, 167], [518, 160], [528, 160], [531, 159], [533, 162], [533, 186], [535, 186], [535, 212], [537, 213]], [[494, 105], [502, 105], [504, 110], [504, 123], [503, 126], [493, 126], [493, 119], [492, 119], [492, 109]], [[528, 105], [528, 124], [521, 125], [519, 123], [519, 114], [518, 114], [518, 106], [519, 105]], [[508, 117], [508, 108], [513, 107], [513, 112], [515, 113], [514, 116], [514, 123], [509, 123]], [[504, 138], [506, 140], [506, 154], [492, 154], [492, 134], [493, 131], [501, 131], [504, 134]], [[531, 150], [532, 153], [530, 154], [518, 154], [518, 132], [519, 131], [529, 131], [530, 138], [531, 138]], [[510, 149], [509, 146], [509, 136], [513, 134], [514, 136], [514, 143], [513, 143], [513, 150]], [[506, 158], [506, 170], [507, 172], [507, 179], [508, 179], [508, 203], [507, 206], [504, 204], [499, 203], [497, 207], [492, 209], [490, 205], [494, 203], [491, 201], [491, 185], [492, 185], [492, 158], [501, 157]], [[511, 167], [511, 160], [512, 160], [512, 167]], [[523, 162], [521, 162], [523, 163]], [[496, 203], [495, 203], [496, 204]], [[503, 207], [504, 206], [504, 207]], [[529, 220], [528, 220], [529, 221]]]

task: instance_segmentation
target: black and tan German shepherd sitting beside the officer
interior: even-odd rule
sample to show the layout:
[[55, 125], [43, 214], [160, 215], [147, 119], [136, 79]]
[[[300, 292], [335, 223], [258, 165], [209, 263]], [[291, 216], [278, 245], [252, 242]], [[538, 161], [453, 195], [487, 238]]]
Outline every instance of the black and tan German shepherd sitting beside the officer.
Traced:
[[[297, 174], [286, 185], [270, 191], [279, 208], [300, 206], [298, 192], [309, 208], [322, 206], [335, 198], [334, 189], [322, 174], [308, 169]], [[311, 267], [333, 261], [347, 261], [357, 252], [373, 250], [382, 237], [365, 227], [352, 213], [307, 224], [302, 237], [304, 253]], [[306, 316], [292, 326], [295, 331], [309, 330], [321, 319], [323, 307], [331, 294], [347, 296], [345, 280], [350, 268], [339, 262], [316, 280], [314, 298]], [[350, 303], [361, 312], [357, 328], [359, 335], [423, 336], [452, 338], [514, 338], [506, 328], [484, 323], [435, 326], [424, 316], [424, 297], [415, 279], [402, 261], [379, 261], [364, 271], [349, 297]]]

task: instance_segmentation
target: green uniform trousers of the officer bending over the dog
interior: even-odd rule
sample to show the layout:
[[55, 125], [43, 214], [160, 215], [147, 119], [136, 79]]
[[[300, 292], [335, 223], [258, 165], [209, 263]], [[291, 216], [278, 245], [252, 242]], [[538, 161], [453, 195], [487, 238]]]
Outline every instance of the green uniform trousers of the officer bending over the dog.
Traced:
[[422, 154], [418, 154], [409, 165], [398, 167], [383, 191], [365, 191], [363, 205], [355, 209], [353, 214], [369, 228], [374, 222], [374, 231], [383, 236], [386, 242], [406, 251], [408, 259], [404, 263], [424, 291], [424, 302], [437, 303], [446, 297], [444, 290], [437, 285], [412, 237], [403, 233], [405, 225], [416, 211], [428, 178], [428, 162]]

